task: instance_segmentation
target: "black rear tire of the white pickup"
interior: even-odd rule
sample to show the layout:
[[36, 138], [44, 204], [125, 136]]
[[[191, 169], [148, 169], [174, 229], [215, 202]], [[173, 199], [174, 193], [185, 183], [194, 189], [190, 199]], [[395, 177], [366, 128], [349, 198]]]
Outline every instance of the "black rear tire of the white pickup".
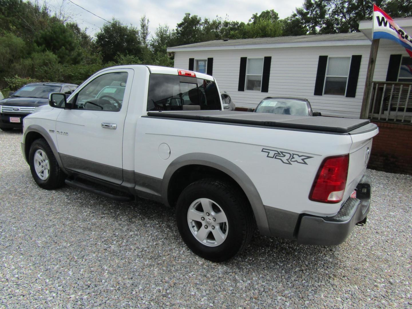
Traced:
[[[191, 206], [196, 205], [195, 201], [199, 199], [213, 201], [213, 207], [218, 205], [218, 208], [215, 209], [219, 210], [220, 208], [227, 218], [227, 234], [225, 234], [225, 239], [220, 244], [215, 240], [215, 246], [206, 245], [195, 237], [195, 232], [192, 232], [193, 229], [198, 229], [197, 234], [205, 228], [205, 225], [207, 230], [211, 228], [210, 224], [215, 224], [213, 221], [210, 223], [209, 220], [209, 225], [207, 225], [206, 220], [213, 218], [202, 217], [203, 222], [192, 221], [189, 225], [189, 209], [192, 209]], [[203, 206], [201, 206], [201, 209], [206, 213]], [[196, 209], [196, 211], [198, 210]], [[218, 213], [215, 214], [218, 215]], [[183, 241], [190, 250], [206, 260], [223, 262], [240, 253], [248, 244], [253, 232], [253, 213], [248, 201], [246, 201], [246, 196], [235, 186], [222, 180], [202, 179], [187, 186], [180, 194], [176, 204], [176, 223]], [[195, 227], [195, 225], [198, 226]], [[222, 227], [223, 229], [219, 227], [220, 231], [225, 230], [225, 226], [222, 225]], [[213, 234], [215, 229], [217, 229], [217, 225], [213, 227], [213, 231], [206, 232], [208, 238], [212, 238], [212, 242], [215, 239]], [[205, 241], [209, 240], [206, 239]]]

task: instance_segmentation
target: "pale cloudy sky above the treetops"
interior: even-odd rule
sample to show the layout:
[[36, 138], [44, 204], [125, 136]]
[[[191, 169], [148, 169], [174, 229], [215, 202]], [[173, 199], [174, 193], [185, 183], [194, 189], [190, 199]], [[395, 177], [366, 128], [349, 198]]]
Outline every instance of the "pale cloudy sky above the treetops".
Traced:
[[[165, 23], [170, 29], [176, 28], [185, 13], [197, 15], [202, 19], [214, 19], [216, 15], [229, 20], [247, 22], [252, 14], [274, 9], [280, 18], [293, 13], [295, 7], [302, 6], [303, 0], [71, 0], [84, 9], [110, 21], [112, 17], [126, 25], [140, 27], [140, 17], [149, 19], [149, 30], [155, 35], [156, 28]], [[41, 3], [41, 0], [39, 1]], [[71, 16], [81, 28], [87, 28], [89, 35], [94, 35], [105, 21], [70, 3], [68, 0], [45, 0], [50, 9], [60, 10]], [[149, 36], [150, 37], [150, 36]]]

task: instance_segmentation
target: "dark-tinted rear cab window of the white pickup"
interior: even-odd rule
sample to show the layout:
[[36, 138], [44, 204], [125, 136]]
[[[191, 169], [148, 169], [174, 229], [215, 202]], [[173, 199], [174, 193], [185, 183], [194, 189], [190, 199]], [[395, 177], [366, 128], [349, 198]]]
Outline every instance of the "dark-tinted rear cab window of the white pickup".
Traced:
[[151, 74], [147, 110], [221, 110], [216, 84], [196, 77]]

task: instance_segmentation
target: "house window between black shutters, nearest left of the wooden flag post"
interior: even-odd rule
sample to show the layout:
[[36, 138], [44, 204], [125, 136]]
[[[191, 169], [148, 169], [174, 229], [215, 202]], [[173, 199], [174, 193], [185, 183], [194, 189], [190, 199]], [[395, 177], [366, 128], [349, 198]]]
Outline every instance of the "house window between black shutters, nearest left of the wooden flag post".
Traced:
[[345, 95], [350, 63], [350, 57], [328, 57], [323, 94]]

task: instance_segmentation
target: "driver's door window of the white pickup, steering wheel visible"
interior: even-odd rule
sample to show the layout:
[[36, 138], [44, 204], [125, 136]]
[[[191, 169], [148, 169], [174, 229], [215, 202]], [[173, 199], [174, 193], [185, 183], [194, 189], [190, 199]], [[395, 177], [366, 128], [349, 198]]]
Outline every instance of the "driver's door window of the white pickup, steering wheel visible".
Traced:
[[96, 77], [73, 98], [73, 109], [118, 112], [122, 108], [127, 75], [113, 72]]

